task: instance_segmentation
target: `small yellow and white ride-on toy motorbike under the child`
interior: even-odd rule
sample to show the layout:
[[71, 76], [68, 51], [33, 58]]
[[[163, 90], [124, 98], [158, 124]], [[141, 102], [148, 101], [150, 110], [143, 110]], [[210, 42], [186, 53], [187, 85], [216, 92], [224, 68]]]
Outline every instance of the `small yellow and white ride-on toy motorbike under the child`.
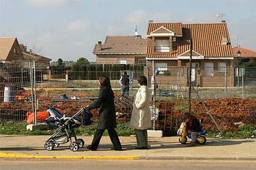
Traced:
[[[186, 144], [187, 137], [191, 139], [191, 134], [187, 132], [187, 129], [186, 129], [186, 123], [181, 123], [181, 126], [177, 130], [177, 136], [179, 136], [179, 142], [181, 144]], [[200, 145], [203, 145], [205, 144], [205, 142], [207, 142], [207, 139], [205, 137], [205, 131], [203, 131], [202, 129], [197, 135], [197, 143]]]

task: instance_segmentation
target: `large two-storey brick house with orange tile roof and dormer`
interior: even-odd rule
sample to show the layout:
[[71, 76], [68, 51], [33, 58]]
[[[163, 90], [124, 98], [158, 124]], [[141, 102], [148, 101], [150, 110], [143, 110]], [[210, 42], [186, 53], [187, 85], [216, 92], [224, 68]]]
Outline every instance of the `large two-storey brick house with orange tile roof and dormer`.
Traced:
[[[233, 49], [226, 22], [153, 23], [147, 27], [148, 77], [160, 71], [158, 82], [179, 84], [179, 75], [187, 82], [192, 46], [192, 84], [198, 87], [234, 86]], [[165, 76], [168, 75], [168, 76]]]

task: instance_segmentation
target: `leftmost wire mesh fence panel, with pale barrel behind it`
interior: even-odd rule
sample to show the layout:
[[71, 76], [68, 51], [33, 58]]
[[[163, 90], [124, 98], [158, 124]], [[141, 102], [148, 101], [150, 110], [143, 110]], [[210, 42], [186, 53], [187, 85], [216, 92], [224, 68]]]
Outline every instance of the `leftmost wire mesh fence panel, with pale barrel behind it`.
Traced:
[[0, 63], [0, 119], [22, 121], [32, 111], [29, 63]]

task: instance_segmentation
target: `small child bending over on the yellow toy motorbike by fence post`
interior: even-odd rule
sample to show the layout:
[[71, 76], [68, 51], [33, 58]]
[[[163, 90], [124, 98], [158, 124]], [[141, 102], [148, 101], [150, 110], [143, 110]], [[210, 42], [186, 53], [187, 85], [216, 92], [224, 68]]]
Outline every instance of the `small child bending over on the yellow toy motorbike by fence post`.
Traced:
[[186, 130], [188, 133], [191, 134], [192, 142], [187, 145], [187, 147], [194, 146], [197, 142], [197, 136], [200, 131], [202, 131], [202, 127], [200, 126], [200, 122], [198, 119], [191, 115], [190, 113], [186, 112], [183, 116], [184, 121], [186, 121]]

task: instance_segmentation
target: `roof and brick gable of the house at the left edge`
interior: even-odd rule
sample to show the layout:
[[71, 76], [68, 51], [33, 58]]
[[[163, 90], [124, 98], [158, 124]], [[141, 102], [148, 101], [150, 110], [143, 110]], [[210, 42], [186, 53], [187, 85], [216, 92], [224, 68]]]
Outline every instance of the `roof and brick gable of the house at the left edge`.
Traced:
[[0, 37], [0, 62], [8, 63], [23, 60], [19, 42], [15, 37]]

